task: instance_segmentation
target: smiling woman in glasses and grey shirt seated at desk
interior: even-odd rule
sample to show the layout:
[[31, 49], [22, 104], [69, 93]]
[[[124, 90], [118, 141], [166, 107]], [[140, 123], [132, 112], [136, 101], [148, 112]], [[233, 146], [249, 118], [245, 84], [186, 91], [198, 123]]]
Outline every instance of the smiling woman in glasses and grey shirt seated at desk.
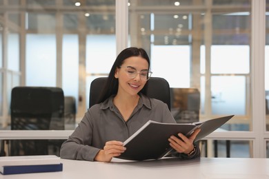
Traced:
[[[150, 78], [150, 59], [141, 48], [127, 48], [117, 56], [99, 104], [88, 109], [79, 126], [61, 146], [61, 158], [110, 162], [126, 147], [123, 142], [149, 119], [175, 123], [168, 106], [140, 91]], [[179, 134], [168, 140], [180, 158], [196, 158], [199, 147]]]

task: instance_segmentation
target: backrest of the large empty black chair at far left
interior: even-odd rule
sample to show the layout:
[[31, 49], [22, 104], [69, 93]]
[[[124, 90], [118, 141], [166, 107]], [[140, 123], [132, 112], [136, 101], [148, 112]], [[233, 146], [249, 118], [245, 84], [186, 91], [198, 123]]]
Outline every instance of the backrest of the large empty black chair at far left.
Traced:
[[11, 92], [11, 129], [64, 129], [64, 98], [59, 87], [14, 87]]

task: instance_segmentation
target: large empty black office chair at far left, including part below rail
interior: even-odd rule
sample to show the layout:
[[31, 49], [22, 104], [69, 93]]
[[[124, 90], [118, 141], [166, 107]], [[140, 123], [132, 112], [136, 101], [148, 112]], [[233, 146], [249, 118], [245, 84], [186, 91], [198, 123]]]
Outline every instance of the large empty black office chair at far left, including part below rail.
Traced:
[[[12, 130], [64, 129], [64, 98], [59, 87], [14, 87], [10, 109]], [[49, 143], [50, 140], [11, 140], [10, 156], [46, 155]]]

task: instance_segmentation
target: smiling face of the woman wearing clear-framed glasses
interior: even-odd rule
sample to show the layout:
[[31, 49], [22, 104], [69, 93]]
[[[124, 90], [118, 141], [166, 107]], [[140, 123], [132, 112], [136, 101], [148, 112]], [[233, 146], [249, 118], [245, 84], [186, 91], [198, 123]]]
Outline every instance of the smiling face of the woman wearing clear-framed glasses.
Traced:
[[115, 78], [119, 79], [118, 94], [136, 95], [146, 84], [148, 61], [141, 56], [131, 56], [116, 69]]

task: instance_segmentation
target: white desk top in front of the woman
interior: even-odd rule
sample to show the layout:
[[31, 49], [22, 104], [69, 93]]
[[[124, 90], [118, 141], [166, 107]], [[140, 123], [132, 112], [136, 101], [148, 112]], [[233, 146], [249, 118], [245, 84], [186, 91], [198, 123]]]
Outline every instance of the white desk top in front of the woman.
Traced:
[[63, 171], [3, 176], [0, 179], [53, 178], [269, 178], [269, 158], [201, 158], [197, 160], [151, 160], [143, 162], [87, 162], [62, 160]]

